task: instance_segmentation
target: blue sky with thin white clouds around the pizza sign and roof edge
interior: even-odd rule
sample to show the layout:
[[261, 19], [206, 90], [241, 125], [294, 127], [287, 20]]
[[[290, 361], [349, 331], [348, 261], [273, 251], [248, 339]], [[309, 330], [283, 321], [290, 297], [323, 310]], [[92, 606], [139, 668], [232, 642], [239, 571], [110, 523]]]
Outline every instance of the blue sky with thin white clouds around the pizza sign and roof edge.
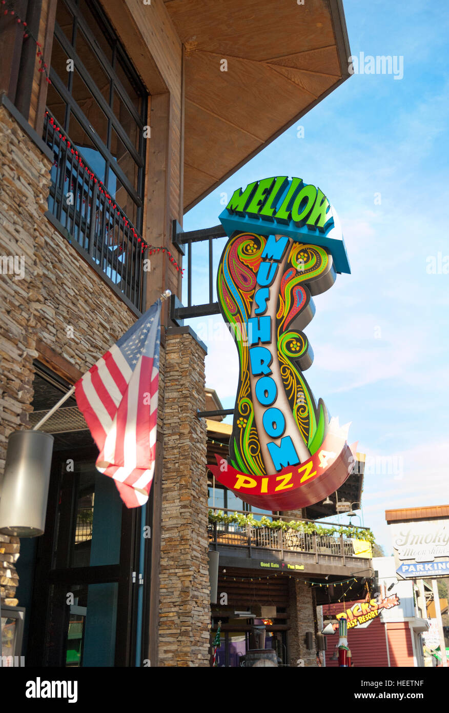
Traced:
[[[364, 520], [390, 554], [386, 508], [449, 503], [449, 274], [438, 274], [438, 254], [449, 262], [449, 5], [344, 9], [352, 55], [403, 56], [403, 78], [351, 76], [188, 212], [184, 229], [217, 225], [222, 193], [271, 175], [299, 176], [331, 200], [352, 272], [314, 298], [306, 378], [370, 459]], [[225, 242], [215, 241], [215, 265]], [[197, 246], [194, 304], [207, 301], [205, 257]], [[230, 408], [238, 359], [221, 323], [191, 322], [209, 349], [207, 386]]]

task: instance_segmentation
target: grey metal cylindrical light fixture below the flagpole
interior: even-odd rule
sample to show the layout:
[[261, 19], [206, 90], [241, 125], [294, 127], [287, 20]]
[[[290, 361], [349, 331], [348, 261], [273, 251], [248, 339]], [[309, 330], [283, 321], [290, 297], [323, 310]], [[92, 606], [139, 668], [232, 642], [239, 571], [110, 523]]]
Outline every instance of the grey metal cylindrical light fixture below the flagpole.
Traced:
[[9, 436], [0, 491], [0, 533], [3, 535], [43, 535], [52, 453], [51, 434], [14, 431]]

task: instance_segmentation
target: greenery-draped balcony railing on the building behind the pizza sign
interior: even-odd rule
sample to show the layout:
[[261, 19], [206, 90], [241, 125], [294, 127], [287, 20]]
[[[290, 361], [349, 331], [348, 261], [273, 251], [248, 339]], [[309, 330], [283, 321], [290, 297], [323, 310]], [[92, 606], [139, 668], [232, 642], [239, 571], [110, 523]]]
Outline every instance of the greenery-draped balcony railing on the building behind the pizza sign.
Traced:
[[[228, 515], [232, 515], [234, 510], [226, 510], [223, 508], [210, 508], [212, 512], [217, 513], [222, 511]], [[248, 515], [243, 511], [237, 511], [242, 515]], [[255, 519], [259, 519], [264, 513], [251, 513]], [[314, 523], [314, 520], [302, 520], [300, 518], [291, 518], [289, 516], [274, 515], [276, 520], [284, 520], [290, 522], [295, 520], [298, 523]], [[315, 524], [315, 523], [314, 523]], [[324, 527], [340, 527], [338, 523], [322, 523]], [[358, 528], [361, 532], [360, 539], [363, 540], [363, 530], [368, 528]], [[218, 548], [222, 545], [226, 548], [246, 548], [251, 554], [252, 549], [271, 550], [272, 552], [280, 553], [281, 558], [286, 554], [308, 555], [310, 560], [319, 561], [319, 558], [326, 558], [332, 561], [339, 561], [346, 564], [346, 559], [358, 558], [353, 550], [352, 538], [346, 538], [344, 535], [318, 535], [317, 533], [306, 533], [294, 528], [287, 530], [274, 530], [267, 526], [254, 526], [250, 523], [246, 525], [238, 525], [237, 523], [209, 523], [208, 525], [209, 543], [212, 547]], [[260, 554], [260, 553], [258, 553]]]

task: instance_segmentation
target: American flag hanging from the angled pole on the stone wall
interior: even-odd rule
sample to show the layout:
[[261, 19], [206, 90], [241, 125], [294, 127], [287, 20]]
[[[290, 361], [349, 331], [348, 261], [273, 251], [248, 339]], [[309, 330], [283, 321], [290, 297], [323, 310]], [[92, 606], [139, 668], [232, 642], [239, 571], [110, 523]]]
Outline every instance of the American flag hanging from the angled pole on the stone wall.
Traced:
[[161, 300], [75, 384], [100, 451], [96, 467], [128, 508], [148, 501], [155, 468]]

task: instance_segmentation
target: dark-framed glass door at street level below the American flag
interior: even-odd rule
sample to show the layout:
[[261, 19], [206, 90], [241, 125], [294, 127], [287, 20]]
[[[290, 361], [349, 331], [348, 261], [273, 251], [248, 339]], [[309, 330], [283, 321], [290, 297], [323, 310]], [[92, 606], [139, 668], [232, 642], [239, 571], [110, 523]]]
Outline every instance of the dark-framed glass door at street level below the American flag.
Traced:
[[[38, 544], [29, 663], [134, 665], [135, 531], [96, 448], [53, 456], [46, 531]], [[137, 543], [138, 545], [138, 543]]]

